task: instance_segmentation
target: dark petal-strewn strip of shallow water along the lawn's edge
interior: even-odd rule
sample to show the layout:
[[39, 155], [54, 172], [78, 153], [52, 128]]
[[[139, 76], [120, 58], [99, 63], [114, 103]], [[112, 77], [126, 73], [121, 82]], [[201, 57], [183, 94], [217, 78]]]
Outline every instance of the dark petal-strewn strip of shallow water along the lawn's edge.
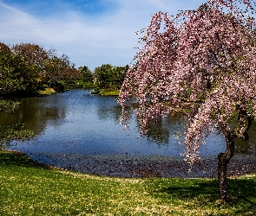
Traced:
[[[5, 150], [5, 149], [4, 149]], [[23, 154], [19, 151], [10, 150]], [[26, 155], [26, 154], [23, 154]], [[28, 156], [28, 155], [26, 155]], [[38, 155], [29, 156], [40, 164], [63, 168], [90, 175], [106, 175], [121, 178], [216, 178], [217, 158], [204, 158], [191, 168], [181, 158], [167, 156], [77, 156]], [[255, 156], [233, 156], [227, 167], [227, 175], [248, 175], [256, 172]]]

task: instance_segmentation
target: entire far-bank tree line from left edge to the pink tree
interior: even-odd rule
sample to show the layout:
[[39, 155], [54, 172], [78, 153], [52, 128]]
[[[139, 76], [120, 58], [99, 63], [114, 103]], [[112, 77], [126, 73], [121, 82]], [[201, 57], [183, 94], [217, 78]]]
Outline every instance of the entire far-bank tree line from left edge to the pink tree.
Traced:
[[75, 80], [82, 81], [84, 88], [118, 90], [127, 71], [128, 66], [102, 64], [92, 72], [87, 66], [75, 68], [69, 56], [58, 56], [56, 49], [0, 42], [0, 97], [34, 96], [45, 87], [61, 92], [63, 85], [72, 85]]

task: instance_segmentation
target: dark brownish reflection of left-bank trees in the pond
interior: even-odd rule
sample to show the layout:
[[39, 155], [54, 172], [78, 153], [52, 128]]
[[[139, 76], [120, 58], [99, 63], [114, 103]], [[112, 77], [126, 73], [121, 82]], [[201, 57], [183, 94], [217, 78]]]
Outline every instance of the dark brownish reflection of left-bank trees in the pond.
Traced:
[[56, 120], [65, 118], [65, 107], [59, 105], [58, 98], [23, 98], [20, 101], [22, 104], [15, 113], [0, 113], [0, 125], [23, 123], [25, 129], [39, 134], [45, 130], [47, 122], [55, 124]]

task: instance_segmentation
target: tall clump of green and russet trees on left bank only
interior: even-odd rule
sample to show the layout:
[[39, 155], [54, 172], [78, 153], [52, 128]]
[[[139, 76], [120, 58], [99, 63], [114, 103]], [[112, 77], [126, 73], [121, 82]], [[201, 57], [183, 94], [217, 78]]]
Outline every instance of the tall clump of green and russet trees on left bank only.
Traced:
[[57, 55], [37, 44], [20, 43], [11, 47], [0, 43], [0, 96], [36, 95], [45, 86], [55, 87], [59, 80], [79, 79], [68, 55]]

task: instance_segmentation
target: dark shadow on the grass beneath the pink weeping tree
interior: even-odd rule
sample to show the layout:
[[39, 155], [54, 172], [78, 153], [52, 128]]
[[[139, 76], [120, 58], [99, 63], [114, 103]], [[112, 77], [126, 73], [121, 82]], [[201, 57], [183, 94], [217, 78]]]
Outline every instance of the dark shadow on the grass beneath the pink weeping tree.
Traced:
[[234, 215], [256, 215], [256, 178], [250, 179], [228, 179], [229, 193], [232, 201], [221, 204], [218, 181], [216, 179], [189, 179], [170, 181], [167, 187], [161, 187], [157, 182], [152, 195], [158, 199], [187, 200], [191, 207], [201, 206], [205, 208], [226, 208]]

